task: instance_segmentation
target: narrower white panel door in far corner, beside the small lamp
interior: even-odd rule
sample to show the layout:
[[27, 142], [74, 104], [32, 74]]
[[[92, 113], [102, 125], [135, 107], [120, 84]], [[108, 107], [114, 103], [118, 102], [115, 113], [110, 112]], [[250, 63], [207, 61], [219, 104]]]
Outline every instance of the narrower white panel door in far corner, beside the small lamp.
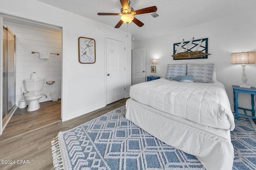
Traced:
[[146, 48], [132, 50], [132, 85], [146, 81]]

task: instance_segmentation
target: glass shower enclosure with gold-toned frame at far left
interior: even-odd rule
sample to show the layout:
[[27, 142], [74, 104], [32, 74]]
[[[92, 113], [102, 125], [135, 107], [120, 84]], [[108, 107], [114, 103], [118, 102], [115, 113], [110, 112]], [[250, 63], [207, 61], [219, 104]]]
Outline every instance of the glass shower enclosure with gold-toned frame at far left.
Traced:
[[15, 104], [15, 35], [3, 26], [3, 107], [2, 127], [6, 125]]

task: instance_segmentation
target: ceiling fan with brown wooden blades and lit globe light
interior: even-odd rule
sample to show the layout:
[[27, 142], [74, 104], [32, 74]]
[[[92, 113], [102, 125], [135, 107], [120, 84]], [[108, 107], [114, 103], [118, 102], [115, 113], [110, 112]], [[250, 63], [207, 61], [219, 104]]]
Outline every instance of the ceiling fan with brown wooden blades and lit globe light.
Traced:
[[138, 14], [146, 14], [150, 12], [156, 12], [157, 8], [156, 6], [151, 6], [148, 8], [143, 8], [140, 10], [134, 11], [132, 7], [130, 7], [130, 0], [120, 0], [122, 8], [121, 8], [121, 14], [118, 13], [98, 13], [99, 16], [121, 16], [121, 20], [116, 24], [115, 28], [119, 28], [122, 23], [130, 23], [133, 21], [136, 25], [139, 27], [142, 27], [144, 23], [142, 23], [140, 20], [135, 18], [135, 15]]

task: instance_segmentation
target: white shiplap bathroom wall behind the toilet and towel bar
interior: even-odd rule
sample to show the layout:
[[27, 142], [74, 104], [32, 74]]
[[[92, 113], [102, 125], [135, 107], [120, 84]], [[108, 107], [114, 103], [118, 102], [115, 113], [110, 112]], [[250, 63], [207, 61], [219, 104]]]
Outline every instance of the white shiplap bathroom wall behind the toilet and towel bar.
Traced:
[[[44, 88], [42, 92], [48, 96], [43, 96], [39, 102], [52, 100], [50, 92], [58, 91], [58, 98], [61, 97], [61, 77], [62, 77], [62, 45], [61, 29], [46, 27], [32, 27], [20, 23], [5, 21], [5, 27], [9, 27], [16, 35], [16, 105], [22, 99], [23, 80], [30, 78], [32, 72], [36, 72], [38, 77], [44, 78]], [[39, 54], [31, 52], [60, 53], [60, 55], [50, 55], [50, 59], [41, 60]], [[55, 81], [52, 85], [47, 85], [47, 81]], [[25, 92], [26, 93], [26, 92]]]

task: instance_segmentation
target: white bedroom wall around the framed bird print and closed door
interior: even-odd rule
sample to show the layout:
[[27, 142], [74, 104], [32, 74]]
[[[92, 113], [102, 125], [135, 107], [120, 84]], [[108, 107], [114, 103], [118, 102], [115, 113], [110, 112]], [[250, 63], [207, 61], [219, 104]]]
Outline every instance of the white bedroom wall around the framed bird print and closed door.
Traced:
[[[131, 84], [131, 36], [102, 23], [36, 0], [0, 0], [0, 12], [62, 27], [62, 121], [106, 106], [106, 37], [125, 42], [126, 89]], [[96, 41], [96, 63], [78, 62], [78, 37]], [[126, 92], [126, 97], [128, 94]]]

